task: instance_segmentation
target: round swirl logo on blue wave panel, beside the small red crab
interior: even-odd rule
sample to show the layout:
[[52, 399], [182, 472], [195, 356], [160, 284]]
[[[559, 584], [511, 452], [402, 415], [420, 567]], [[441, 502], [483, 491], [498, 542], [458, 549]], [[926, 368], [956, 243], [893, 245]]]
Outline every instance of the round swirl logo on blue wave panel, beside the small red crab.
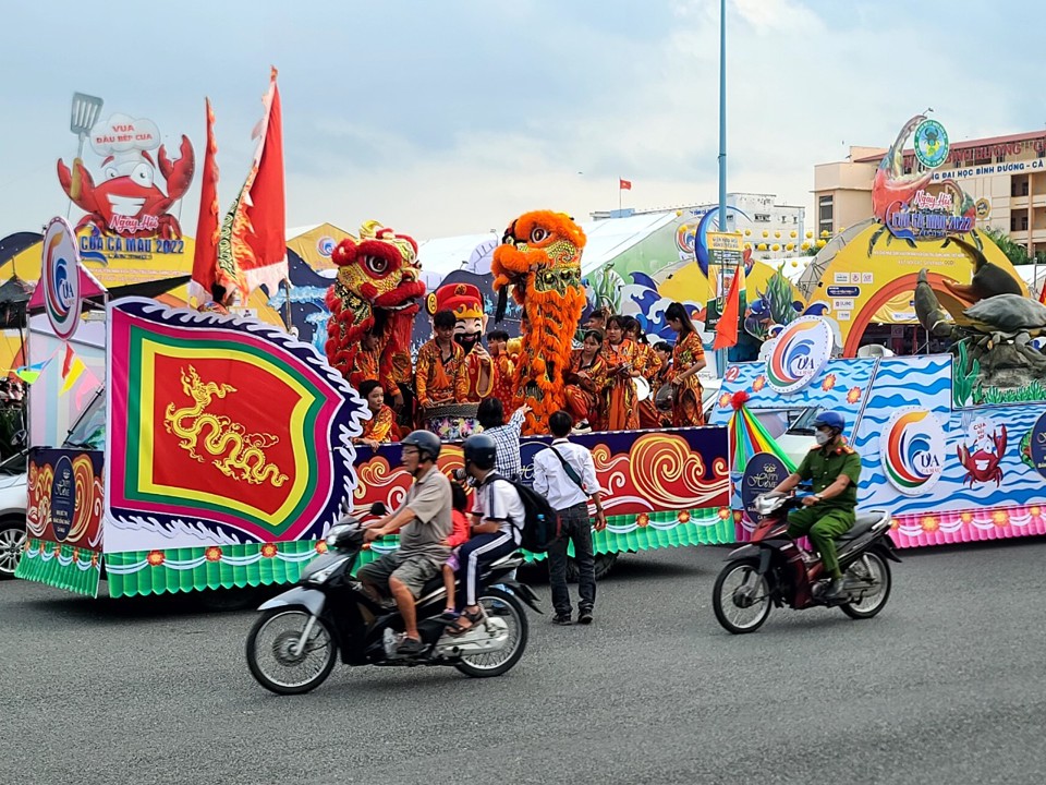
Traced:
[[879, 454], [890, 484], [908, 496], [928, 492], [945, 464], [945, 432], [937, 416], [925, 409], [905, 408], [886, 423]]

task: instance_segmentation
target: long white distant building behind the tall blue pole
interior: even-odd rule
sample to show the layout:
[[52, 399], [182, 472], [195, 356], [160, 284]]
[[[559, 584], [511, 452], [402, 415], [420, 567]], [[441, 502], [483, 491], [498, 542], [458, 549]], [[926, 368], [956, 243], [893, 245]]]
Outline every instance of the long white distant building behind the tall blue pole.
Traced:
[[[776, 202], [777, 196], [775, 194], [727, 194], [728, 209], [726, 231], [741, 232], [745, 235], [746, 241], [753, 245], [766, 244], [767, 252], [769, 252], [775, 244], [780, 246], [777, 249], [778, 251], [784, 250], [786, 245], [789, 244], [799, 247], [805, 238], [806, 208], [795, 205], [776, 204]], [[871, 201], [868, 204], [871, 205]], [[594, 221], [659, 213], [686, 213], [693, 218], [701, 218], [705, 214], [717, 209], [719, 209], [718, 203], [684, 205], [671, 208], [662, 207], [650, 210], [636, 210], [631, 208], [599, 210], [591, 215]]]

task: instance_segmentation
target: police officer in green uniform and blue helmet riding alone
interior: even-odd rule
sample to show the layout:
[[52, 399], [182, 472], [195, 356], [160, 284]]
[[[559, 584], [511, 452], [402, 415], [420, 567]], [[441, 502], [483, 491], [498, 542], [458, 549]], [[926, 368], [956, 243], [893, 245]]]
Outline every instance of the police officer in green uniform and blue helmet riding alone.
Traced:
[[811, 448], [794, 473], [789, 474], [774, 491], [789, 493], [800, 481], [811, 480], [814, 493], [803, 498], [803, 508], [788, 516], [791, 538], [807, 535], [831, 576], [825, 599], [836, 600], [842, 594], [842, 571], [836, 556], [836, 538], [849, 531], [854, 523], [858, 506], [858, 483], [861, 481], [861, 456], [842, 437], [846, 420], [834, 411], [822, 412], [814, 420], [817, 445]]

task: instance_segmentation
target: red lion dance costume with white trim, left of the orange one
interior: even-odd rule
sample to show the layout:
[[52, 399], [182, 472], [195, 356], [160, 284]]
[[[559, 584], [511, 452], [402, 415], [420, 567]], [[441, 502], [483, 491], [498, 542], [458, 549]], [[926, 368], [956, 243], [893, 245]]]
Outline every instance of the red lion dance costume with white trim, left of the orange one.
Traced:
[[331, 254], [338, 277], [327, 290], [327, 360], [350, 379], [374, 378], [397, 398], [410, 376], [411, 331], [425, 285], [417, 243], [377, 221], [345, 238]]

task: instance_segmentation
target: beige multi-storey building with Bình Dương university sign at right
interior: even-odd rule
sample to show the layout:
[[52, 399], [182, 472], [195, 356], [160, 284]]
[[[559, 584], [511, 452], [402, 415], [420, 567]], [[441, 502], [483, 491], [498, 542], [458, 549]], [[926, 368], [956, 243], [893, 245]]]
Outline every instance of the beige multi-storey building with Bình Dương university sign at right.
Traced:
[[[814, 167], [813, 229], [830, 234], [872, 216], [872, 180], [884, 147], [851, 147], [844, 161]], [[914, 166], [904, 150], [904, 172]], [[952, 142], [934, 183], [951, 180], [977, 202], [977, 222], [1046, 253], [1046, 131]]]

